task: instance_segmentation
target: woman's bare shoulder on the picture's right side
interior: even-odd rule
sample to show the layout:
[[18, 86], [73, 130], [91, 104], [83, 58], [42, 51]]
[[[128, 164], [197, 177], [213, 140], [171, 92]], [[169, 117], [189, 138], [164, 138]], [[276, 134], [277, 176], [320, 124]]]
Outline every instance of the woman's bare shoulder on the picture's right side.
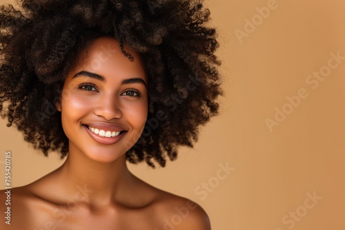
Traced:
[[207, 213], [197, 203], [154, 188], [156, 229], [209, 230]]

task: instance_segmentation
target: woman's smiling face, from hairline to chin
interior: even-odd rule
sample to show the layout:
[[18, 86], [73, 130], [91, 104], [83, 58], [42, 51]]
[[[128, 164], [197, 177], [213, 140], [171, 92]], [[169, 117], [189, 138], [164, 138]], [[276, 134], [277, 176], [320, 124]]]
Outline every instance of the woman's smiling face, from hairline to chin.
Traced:
[[115, 39], [96, 39], [68, 75], [57, 109], [69, 154], [107, 163], [139, 139], [148, 113], [147, 79], [139, 55], [130, 61]]

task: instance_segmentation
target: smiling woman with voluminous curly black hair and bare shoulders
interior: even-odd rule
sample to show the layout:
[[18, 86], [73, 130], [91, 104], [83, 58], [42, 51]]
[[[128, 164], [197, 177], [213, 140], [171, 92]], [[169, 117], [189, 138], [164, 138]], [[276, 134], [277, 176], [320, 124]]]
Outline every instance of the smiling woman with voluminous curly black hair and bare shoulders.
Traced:
[[46, 156], [67, 156], [10, 191], [11, 222], [1, 229], [210, 229], [201, 207], [126, 167], [164, 167], [217, 114], [218, 44], [208, 17], [194, 1], [1, 8], [1, 112]]

